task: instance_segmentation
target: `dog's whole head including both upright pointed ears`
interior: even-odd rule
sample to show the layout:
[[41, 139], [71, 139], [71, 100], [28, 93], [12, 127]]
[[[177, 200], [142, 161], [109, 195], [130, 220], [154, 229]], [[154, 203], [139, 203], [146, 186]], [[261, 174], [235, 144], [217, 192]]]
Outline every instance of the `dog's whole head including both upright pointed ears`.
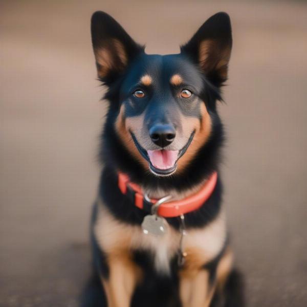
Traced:
[[183, 170], [213, 128], [208, 93], [218, 96], [227, 79], [228, 15], [209, 18], [180, 54], [146, 54], [102, 12], [92, 17], [92, 39], [98, 77], [118, 92], [114, 129], [126, 149], [157, 176]]

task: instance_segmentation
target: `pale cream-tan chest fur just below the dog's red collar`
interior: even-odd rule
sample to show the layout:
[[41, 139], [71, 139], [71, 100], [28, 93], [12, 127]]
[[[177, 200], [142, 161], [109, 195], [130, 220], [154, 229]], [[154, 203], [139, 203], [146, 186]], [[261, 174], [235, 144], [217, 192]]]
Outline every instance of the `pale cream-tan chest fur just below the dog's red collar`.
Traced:
[[[94, 233], [104, 253], [112, 255], [127, 254], [134, 250], [148, 252], [157, 272], [168, 274], [170, 260], [179, 252], [181, 233], [167, 225], [162, 236], [145, 234], [140, 226], [122, 223], [99, 203]], [[188, 230], [184, 236], [183, 249], [195, 252], [204, 263], [220, 252], [225, 241], [224, 218], [218, 217], [203, 229]]]

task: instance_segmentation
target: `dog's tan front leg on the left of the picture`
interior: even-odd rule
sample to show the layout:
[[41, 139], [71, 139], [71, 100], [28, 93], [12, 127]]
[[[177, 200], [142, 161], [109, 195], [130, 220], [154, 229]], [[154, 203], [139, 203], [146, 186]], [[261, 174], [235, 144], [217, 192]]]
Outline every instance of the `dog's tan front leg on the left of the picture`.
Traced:
[[129, 307], [140, 268], [128, 256], [108, 257], [109, 275], [102, 277], [108, 307]]

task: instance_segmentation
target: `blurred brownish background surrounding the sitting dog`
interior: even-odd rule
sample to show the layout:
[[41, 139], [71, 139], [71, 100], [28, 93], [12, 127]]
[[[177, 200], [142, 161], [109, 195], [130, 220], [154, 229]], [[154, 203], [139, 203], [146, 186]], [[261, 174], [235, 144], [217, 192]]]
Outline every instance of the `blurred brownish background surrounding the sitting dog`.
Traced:
[[0, 306], [78, 304], [90, 272], [89, 216], [103, 89], [90, 18], [114, 16], [147, 53], [177, 53], [226, 11], [233, 52], [224, 203], [249, 306], [307, 305], [307, 3], [0, 3]]

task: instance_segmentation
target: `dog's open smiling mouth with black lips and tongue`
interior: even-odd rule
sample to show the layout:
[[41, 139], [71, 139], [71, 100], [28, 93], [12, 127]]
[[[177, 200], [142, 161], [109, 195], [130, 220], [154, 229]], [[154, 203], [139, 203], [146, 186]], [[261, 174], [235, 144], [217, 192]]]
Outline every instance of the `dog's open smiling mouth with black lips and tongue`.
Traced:
[[158, 176], [169, 176], [176, 171], [177, 161], [184, 155], [191, 144], [195, 130], [191, 133], [187, 143], [180, 150], [159, 149], [147, 151], [140, 145], [131, 131], [130, 134], [141, 155], [148, 161], [150, 170]]

